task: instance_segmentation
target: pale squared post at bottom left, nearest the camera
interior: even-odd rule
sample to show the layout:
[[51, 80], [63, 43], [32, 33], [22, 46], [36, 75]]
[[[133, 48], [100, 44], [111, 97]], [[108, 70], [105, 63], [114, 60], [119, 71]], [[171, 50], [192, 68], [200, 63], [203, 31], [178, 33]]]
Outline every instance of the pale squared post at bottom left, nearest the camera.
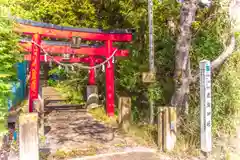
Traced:
[[20, 160], [39, 160], [38, 114], [24, 113], [19, 116]]

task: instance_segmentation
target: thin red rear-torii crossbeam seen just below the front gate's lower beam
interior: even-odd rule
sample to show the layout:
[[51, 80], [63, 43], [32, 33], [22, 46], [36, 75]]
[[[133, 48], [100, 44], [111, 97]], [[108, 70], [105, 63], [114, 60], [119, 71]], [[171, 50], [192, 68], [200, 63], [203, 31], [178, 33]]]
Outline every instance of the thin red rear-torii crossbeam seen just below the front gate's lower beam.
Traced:
[[[24, 55], [24, 60], [31, 61], [31, 55], [26, 54]], [[47, 56], [47, 62], [50, 62], [52, 59]], [[82, 58], [70, 58], [69, 60], [64, 60], [61, 56], [54, 56], [54, 60], [57, 60], [59, 62], [66, 62], [66, 63], [90, 63], [89, 57], [82, 57]], [[40, 55], [40, 61], [44, 62], [45, 57], [44, 55]], [[95, 63], [99, 64], [102, 63], [104, 60], [102, 58], [95, 58]]]

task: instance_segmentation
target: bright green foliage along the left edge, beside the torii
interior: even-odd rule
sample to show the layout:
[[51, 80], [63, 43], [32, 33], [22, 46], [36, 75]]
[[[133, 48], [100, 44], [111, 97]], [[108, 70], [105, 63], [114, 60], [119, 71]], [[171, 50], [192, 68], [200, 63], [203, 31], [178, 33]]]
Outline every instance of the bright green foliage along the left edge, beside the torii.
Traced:
[[[2, 5], [0, 5], [1, 7]], [[6, 7], [6, 6], [4, 6]], [[13, 22], [6, 18], [7, 15], [0, 16], [0, 120], [1, 126], [5, 125], [5, 118], [8, 112], [7, 99], [10, 98], [9, 82], [16, 80], [15, 64], [20, 60], [18, 51], [18, 37], [12, 32]], [[0, 128], [0, 132], [3, 127]]]

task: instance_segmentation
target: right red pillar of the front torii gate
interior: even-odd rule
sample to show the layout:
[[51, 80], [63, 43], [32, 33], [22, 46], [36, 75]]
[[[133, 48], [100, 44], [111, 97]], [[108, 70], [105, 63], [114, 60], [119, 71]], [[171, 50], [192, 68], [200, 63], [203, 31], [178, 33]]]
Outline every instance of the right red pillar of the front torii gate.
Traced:
[[[112, 48], [112, 41], [106, 41], [106, 53], [107, 57], [112, 55], [114, 51]], [[112, 59], [106, 63], [106, 108], [108, 116], [114, 116], [114, 65], [112, 63]]]

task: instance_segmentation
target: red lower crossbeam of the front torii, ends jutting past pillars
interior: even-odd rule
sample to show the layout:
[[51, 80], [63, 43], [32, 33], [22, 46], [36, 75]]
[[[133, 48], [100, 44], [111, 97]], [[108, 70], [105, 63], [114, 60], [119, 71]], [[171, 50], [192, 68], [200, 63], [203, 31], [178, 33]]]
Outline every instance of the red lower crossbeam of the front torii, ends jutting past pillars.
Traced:
[[[26, 43], [19, 43], [19, 45], [23, 48], [25, 52], [31, 52], [31, 43], [26, 42]], [[82, 55], [89, 55], [89, 56], [106, 56], [106, 49], [105, 47], [99, 47], [99, 48], [92, 48], [92, 47], [83, 47], [80, 49], [72, 49], [70, 46], [53, 46], [53, 45], [48, 45], [42, 43], [41, 46], [43, 49], [51, 54], [64, 54], [64, 53], [69, 53], [69, 54], [82, 54]], [[113, 48], [115, 50], [117, 48]], [[118, 50], [115, 54], [117, 57], [126, 57], [129, 55], [128, 50]]]

